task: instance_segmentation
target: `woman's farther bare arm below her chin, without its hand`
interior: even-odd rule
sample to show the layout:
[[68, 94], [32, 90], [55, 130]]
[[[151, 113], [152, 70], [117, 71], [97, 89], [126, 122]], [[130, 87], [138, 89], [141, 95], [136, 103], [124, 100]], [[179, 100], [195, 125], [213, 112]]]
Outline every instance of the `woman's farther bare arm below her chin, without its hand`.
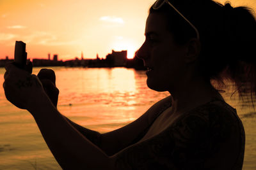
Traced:
[[147, 131], [148, 125], [154, 121], [156, 115], [168, 106], [170, 106], [170, 96], [154, 104], [146, 113], [141, 115], [141, 117], [134, 122], [131, 122], [131, 124], [104, 134], [86, 129], [81, 125], [72, 122], [68, 118], [65, 118], [77, 131], [81, 132], [83, 136], [92, 141], [93, 144], [97, 145], [110, 156], [120, 152], [120, 150], [123, 150], [127, 146], [136, 143], [139, 140], [138, 137], [142, 137], [141, 134], [144, 134]]

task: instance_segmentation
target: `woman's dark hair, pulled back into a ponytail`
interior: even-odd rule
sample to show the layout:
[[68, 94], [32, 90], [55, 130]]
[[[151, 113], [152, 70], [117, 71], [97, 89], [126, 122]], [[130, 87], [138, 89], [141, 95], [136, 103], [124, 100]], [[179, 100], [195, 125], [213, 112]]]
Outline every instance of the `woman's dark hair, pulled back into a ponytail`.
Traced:
[[[212, 0], [175, 0], [173, 6], [198, 29], [202, 46], [199, 56], [200, 73], [207, 80], [234, 82], [243, 98], [256, 96], [256, 20], [253, 10], [244, 6], [233, 8], [229, 1], [222, 5]], [[170, 22], [168, 29], [180, 45], [196, 32], [169, 4], [150, 13], [162, 13]], [[244, 84], [250, 83], [250, 90]], [[248, 86], [247, 86], [248, 87]], [[253, 103], [252, 103], [253, 104]]]

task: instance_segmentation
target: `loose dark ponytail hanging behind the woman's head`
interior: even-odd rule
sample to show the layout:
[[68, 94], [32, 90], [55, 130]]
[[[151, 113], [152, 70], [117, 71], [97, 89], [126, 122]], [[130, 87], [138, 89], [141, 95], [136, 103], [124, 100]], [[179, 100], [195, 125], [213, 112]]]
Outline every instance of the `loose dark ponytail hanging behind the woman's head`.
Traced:
[[[256, 97], [256, 20], [253, 10], [244, 6], [232, 8], [229, 3], [223, 6], [229, 18], [227, 32], [231, 48], [227, 69], [222, 74], [223, 78], [234, 82], [239, 97], [250, 96], [250, 101]], [[227, 14], [229, 12], [229, 14]], [[228, 55], [228, 54], [227, 54]], [[223, 79], [222, 78], [222, 79]], [[249, 94], [249, 95], [248, 95]]]

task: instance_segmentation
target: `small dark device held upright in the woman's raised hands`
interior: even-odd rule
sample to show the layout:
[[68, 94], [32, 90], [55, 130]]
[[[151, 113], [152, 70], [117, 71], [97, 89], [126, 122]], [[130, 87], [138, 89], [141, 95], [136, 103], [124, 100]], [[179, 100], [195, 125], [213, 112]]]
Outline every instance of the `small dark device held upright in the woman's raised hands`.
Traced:
[[27, 64], [26, 43], [22, 41], [15, 42], [14, 62], [21, 69], [25, 69]]

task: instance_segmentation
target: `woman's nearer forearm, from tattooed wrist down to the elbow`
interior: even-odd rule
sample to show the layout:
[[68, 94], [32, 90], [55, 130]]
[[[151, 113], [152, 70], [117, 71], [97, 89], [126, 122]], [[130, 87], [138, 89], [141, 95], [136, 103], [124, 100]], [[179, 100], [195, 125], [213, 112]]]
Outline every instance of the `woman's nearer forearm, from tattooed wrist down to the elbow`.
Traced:
[[29, 112], [63, 169], [113, 169], [113, 159], [78, 132], [48, 101], [34, 104]]

